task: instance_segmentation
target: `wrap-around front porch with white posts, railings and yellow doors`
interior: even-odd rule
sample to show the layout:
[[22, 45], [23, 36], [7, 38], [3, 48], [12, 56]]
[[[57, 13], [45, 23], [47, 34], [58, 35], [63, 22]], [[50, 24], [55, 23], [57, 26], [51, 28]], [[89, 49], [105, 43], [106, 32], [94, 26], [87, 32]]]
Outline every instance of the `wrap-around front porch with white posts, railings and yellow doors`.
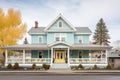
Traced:
[[36, 63], [68, 64], [107, 64], [108, 47], [8, 47], [5, 50], [5, 64], [19, 63], [27, 66]]

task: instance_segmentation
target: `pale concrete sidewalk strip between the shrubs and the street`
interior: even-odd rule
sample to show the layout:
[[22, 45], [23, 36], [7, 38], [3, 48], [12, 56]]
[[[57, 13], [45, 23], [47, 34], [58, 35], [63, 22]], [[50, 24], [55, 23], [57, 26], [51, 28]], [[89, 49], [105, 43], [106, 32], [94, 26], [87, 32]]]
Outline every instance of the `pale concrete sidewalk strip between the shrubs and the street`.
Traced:
[[70, 69], [50, 69], [50, 70], [26, 70], [26, 71], [0, 71], [0, 73], [120, 73], [120, 70], [70, 70]]

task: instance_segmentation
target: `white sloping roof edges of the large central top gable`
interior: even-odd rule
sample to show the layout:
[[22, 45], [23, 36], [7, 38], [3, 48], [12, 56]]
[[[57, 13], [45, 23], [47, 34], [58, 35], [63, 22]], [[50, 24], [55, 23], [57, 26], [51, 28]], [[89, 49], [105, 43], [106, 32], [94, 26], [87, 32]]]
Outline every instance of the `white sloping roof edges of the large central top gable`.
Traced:
[[45, 29], [44, 31], [48, 31], [48, 29], [57, 21], [59, 18], [62, 18], [67, 24], [70, 25], [70, 27], [73, 29], [73, 31], [76, 31], [75, 27], [66, 19], [64, 18], [61, 14], [59, 14]]

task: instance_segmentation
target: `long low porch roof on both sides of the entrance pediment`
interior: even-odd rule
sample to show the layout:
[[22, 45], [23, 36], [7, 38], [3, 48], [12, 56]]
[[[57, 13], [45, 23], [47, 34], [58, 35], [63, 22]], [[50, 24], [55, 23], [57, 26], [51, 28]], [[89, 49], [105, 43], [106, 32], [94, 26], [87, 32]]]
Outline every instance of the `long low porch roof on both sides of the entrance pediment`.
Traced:
[[[108, 50], [111, 49], [112, 46], [105, 45], [71, 45], [70, 49], [75, 50]], [[47, 50], [50, 49], [50, 46], [47, 44], [24, 44], [24, 45], [15, 45], [15, 46], [6, 46], [1, 47], [3, 49], [12, 49], [12, 50]]]

